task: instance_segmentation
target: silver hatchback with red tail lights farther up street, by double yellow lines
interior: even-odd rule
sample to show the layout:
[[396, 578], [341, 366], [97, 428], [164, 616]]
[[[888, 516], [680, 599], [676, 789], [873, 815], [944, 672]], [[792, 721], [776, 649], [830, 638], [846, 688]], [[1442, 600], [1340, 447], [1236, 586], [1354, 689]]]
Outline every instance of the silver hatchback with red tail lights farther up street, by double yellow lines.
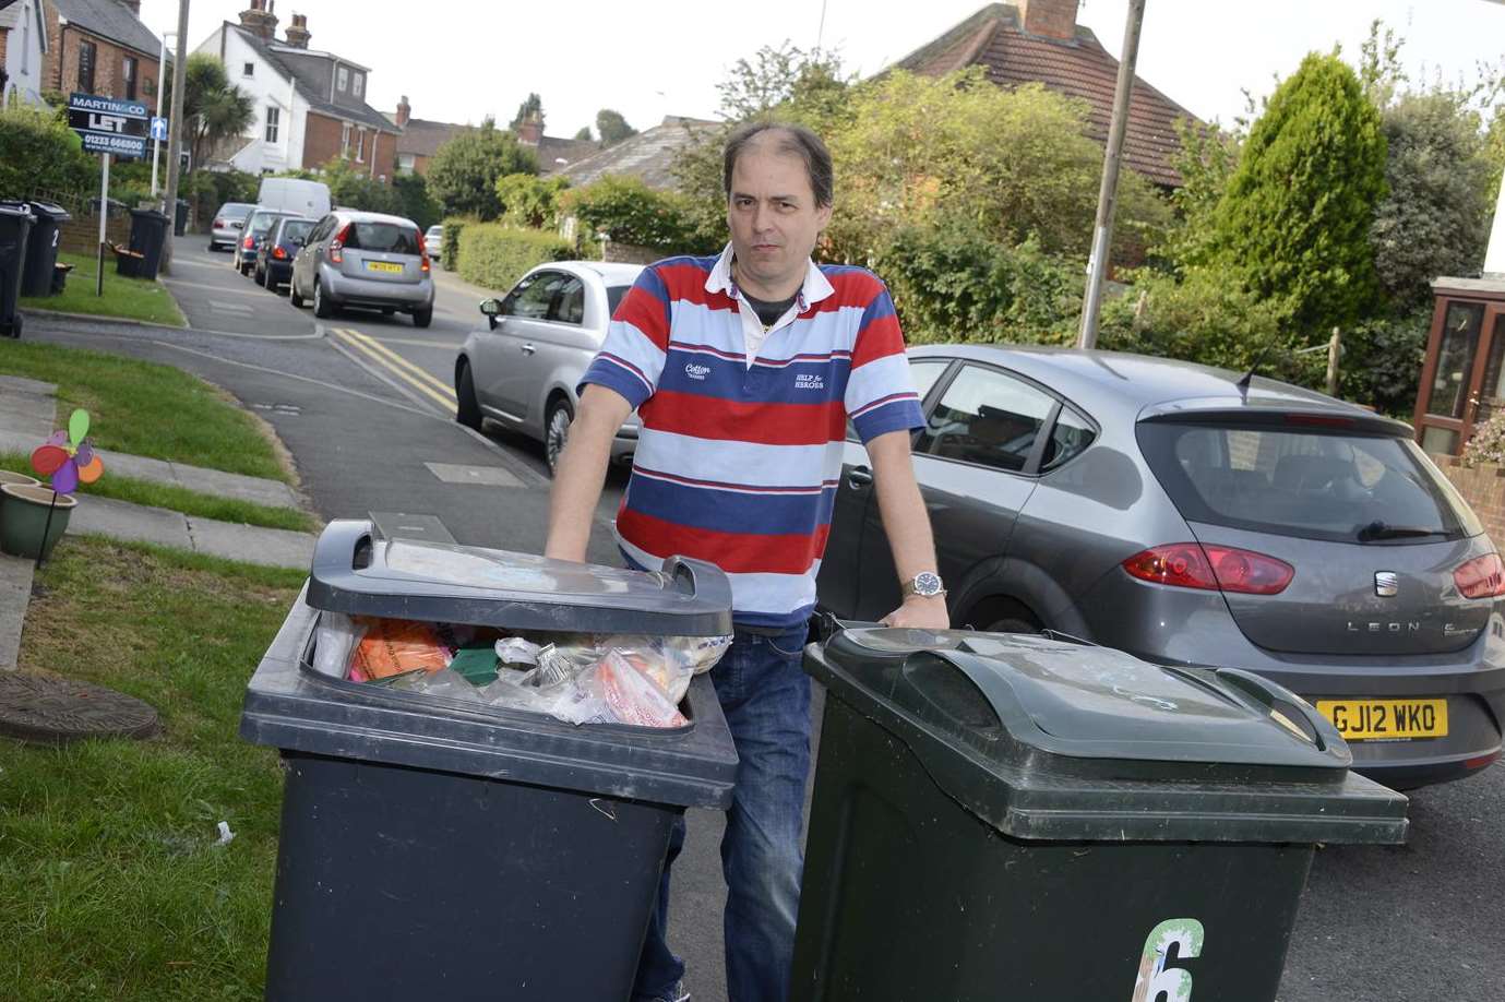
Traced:
[[292, 262], [287, 295], [331, 317], [342, 307], [433, 320], [433, 275], [417, 223], [381, 212], [336, 211], [309, 232]]

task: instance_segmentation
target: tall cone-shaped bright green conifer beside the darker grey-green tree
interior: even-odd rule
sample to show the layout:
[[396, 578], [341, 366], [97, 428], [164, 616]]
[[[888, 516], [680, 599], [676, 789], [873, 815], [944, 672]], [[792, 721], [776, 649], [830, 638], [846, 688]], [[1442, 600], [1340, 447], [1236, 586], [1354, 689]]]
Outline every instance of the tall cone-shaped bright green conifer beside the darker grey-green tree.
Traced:
[[1385, 134], [1336, 54], [1309, 54], [1270, 96], [1218, 205], [1215, 256], [1308, 336], [1373, 308], [1370, 226], [1385, 197]]

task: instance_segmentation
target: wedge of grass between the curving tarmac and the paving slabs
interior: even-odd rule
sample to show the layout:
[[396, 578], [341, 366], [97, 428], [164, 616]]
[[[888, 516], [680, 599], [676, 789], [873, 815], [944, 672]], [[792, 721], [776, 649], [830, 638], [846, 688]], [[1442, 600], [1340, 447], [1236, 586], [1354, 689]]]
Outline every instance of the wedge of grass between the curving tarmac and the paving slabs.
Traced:
[[290, 480], [254, 418], [181, 369], [23, 340], [0, 345], [0, 373], [57, 384], [57, 427], [84, 408], [99, 448]]

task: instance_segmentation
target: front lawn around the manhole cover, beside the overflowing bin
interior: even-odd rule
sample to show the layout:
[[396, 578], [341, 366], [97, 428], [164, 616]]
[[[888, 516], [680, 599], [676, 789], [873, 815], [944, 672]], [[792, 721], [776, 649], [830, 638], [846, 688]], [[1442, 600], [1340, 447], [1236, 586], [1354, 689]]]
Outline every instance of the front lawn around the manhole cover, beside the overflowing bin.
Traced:
[[163, 733], [0, 739], [8, 1002], [260, 999], [281, 778], [275, 751], [236, 727], [301, 579], [72, 536], [41, 569], [21, 670], [146, 700]]

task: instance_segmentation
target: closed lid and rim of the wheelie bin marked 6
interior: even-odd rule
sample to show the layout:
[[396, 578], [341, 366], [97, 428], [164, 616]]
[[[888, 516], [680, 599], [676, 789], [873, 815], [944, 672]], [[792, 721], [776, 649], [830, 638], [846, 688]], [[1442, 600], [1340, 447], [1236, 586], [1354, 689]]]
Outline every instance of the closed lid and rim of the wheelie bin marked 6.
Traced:
[[807, 654], [947, 791], [1022, 838], [1400, 843], [1406, 797], [1252, 673], [966, 630], [852, 629]]

